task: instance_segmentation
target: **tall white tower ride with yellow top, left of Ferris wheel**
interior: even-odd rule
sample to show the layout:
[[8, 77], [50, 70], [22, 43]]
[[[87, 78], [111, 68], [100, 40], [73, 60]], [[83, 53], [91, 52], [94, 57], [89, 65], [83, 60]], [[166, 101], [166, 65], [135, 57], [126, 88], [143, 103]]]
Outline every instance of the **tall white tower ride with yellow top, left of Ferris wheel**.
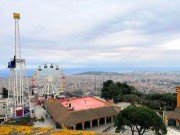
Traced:
[[14, 13], [13, 15], [13, 19], [15, 20], [15, 54], [14, 58], [8, 63], [10, 74], [7, 114], [8, 117], [19, 118], [25, 115], [31, 115], [31, 105], [25, 59], [21, 58], [20, 14]]

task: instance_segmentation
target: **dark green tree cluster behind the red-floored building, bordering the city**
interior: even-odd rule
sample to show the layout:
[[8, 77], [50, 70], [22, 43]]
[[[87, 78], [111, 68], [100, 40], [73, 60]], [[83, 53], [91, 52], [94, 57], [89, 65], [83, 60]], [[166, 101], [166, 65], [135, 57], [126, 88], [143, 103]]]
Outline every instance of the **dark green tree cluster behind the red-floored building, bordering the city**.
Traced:
[[176, 108], [177, 102], [177, 95], [175, 93], [144, 94], [127, 83], [114, 83], [112, 80], [103, 83], [101, 97], [104, 99], [113, 99], [115, 103], [122, 101], [131, 104], [138, 103], [159, 111], [163, 111], [164, 108], [172, 111]]

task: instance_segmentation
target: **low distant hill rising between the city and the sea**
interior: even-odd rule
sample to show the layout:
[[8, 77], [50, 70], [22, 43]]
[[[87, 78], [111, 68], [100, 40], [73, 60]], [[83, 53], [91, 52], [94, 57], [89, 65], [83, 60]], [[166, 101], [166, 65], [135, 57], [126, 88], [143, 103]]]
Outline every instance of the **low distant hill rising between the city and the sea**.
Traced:
[[104, 71], [88, 71], [88, 72], [82, 72], [77, 73], [75, 75], [118, 75], [120, 73], [118, 72], [104, 72]]

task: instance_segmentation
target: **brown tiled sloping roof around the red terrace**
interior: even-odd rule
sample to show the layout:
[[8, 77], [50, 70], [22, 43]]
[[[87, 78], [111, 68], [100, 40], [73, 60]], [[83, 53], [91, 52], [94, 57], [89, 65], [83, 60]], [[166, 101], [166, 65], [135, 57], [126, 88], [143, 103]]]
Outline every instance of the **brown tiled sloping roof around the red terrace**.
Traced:
[[103, 117], [114, 116], [119, 112], [119, 108], [116, 108], [110, 104], [99, 108], [70, 111], [56, 100], [46, 102], [45, 107], [55, 122], [65, 124], [66, 126], [72, 126], [77, 123], [91, 121]]

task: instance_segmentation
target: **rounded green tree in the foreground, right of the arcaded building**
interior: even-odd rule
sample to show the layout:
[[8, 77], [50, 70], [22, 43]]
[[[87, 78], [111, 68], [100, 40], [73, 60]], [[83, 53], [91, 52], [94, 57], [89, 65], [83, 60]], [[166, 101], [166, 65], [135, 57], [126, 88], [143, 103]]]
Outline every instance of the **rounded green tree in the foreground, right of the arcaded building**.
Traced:
[[[114, 127], [116, 132], [130, 129], [132, 135], [138, 135], [152, 130], [157, 135], [167, 134], [167, 129], [162, 118], [153, 110], [146, 107], [129, 106], [119, 112], [115, 117]], [[128, 127], [128, 128], [127, 128]]]

